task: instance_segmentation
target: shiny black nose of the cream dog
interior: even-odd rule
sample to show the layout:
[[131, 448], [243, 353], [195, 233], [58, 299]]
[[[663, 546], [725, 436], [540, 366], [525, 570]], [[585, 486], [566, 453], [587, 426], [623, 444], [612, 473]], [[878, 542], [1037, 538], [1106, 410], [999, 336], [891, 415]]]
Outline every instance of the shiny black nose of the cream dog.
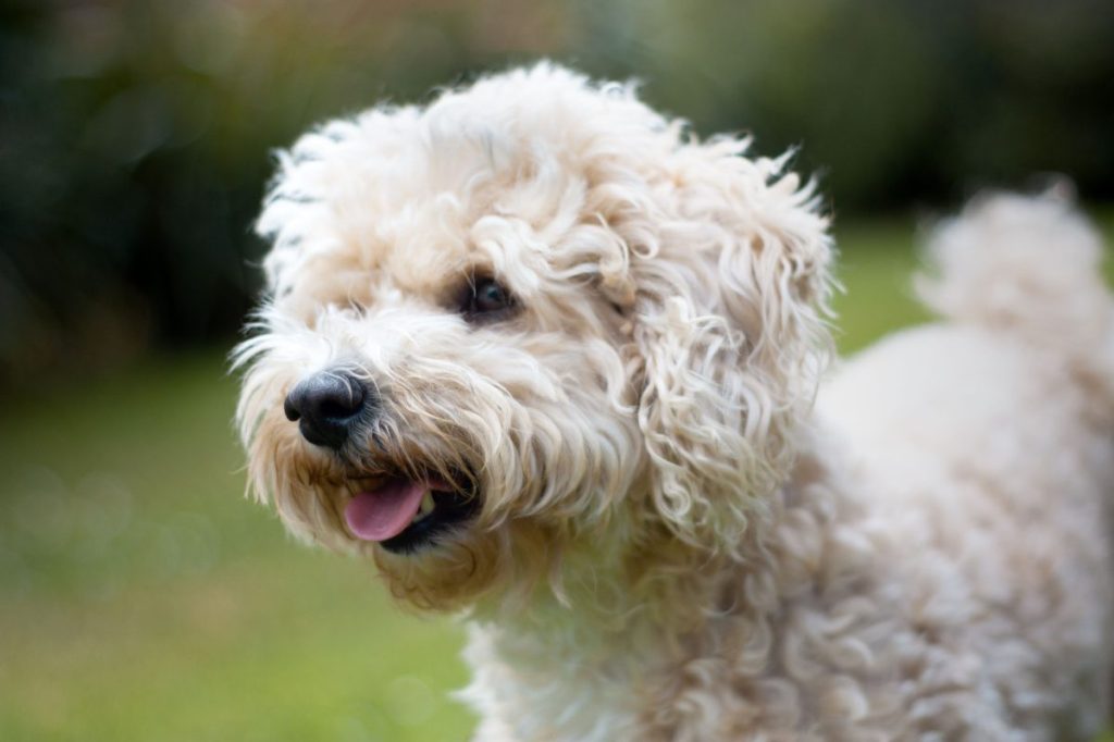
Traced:
[[339, 449], [369, 407], [371, 393], [362, 381], [343, 371], [321, 371], [294, 387], [283, 411], [297, 421], [305, 440]]

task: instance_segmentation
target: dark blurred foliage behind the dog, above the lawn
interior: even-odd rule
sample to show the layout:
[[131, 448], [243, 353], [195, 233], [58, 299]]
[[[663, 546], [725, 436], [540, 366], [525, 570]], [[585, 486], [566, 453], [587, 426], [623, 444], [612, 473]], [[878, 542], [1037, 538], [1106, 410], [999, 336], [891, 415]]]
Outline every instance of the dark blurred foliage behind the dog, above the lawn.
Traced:
[[1108, 0], [9, 0], [0, 383], [226, 338], [268, 152], [541, 56], [800, 146], [840, 213], [1046, 170], [1114, 196]]

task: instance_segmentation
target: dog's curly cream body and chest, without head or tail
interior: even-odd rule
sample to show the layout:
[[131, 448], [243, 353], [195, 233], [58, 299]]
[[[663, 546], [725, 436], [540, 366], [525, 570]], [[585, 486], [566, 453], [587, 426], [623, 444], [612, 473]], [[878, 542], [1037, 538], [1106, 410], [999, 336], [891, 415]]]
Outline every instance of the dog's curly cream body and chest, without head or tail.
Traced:
[[761, 566], [687, 576], [697, 631], [557, 605], [473, 628], [479, 739], [1092, 739], [1114, 481], [1092, 403], [1015, 338], [888, 339], [821, 390]]

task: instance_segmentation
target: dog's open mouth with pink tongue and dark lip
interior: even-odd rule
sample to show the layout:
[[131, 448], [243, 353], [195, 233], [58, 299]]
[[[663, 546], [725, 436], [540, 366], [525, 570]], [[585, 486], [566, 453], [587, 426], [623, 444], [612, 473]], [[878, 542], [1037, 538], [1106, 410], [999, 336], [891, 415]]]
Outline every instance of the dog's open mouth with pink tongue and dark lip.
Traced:
[[471, 489], [438, 477], [392, 476], [355, 491], [344, 506], [349, 531], [394, 554], [430, 547], [479, 508]]

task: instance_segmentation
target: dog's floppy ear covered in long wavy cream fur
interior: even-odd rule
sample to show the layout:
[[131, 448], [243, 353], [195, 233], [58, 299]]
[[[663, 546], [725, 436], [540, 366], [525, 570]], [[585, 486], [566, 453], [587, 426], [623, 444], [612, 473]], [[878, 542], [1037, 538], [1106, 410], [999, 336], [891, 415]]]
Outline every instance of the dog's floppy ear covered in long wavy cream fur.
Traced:
[[628, 237], [643, 236], [632, 332], [654, 511], [713, 549], [739, 545], [789, 475], [832, 346], [833, 247], [812, 185], [784, 173], [788, 156], [746, 159], [746, 145], [682, 145], [656, 230]]

